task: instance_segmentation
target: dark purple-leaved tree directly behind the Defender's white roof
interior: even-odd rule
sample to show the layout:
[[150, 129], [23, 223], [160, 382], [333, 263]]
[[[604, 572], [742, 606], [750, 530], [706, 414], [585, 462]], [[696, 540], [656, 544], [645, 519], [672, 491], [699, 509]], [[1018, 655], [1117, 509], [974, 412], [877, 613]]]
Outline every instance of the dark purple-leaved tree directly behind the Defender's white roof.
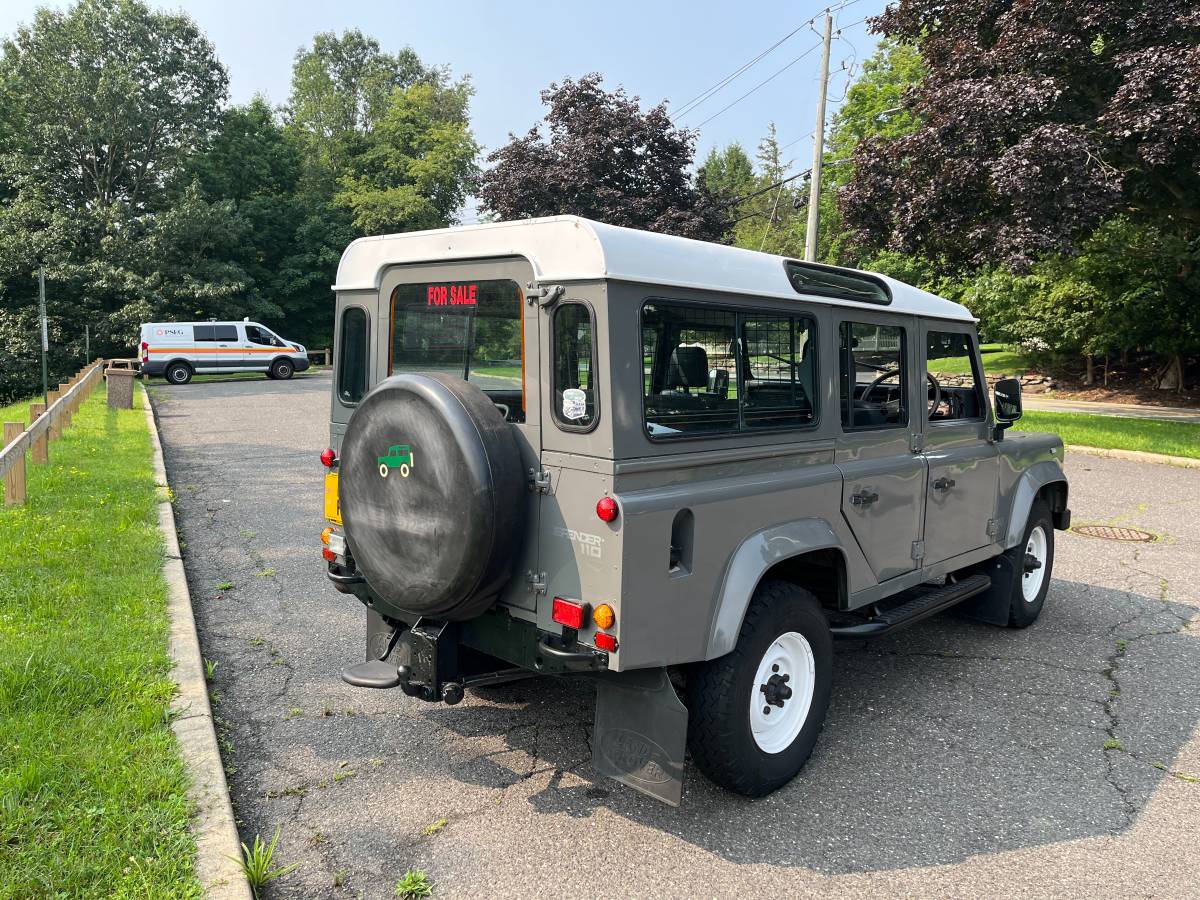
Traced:
[[689, 174], [695, 136], [671, 124], [666, 104], [642, 112], [601, 76], [551, 84], [548, 134], [535, 126], [487, 157], [482, 205], [500, 218], [574, 214], [611, 224], [714, 240], [724, 215]]

